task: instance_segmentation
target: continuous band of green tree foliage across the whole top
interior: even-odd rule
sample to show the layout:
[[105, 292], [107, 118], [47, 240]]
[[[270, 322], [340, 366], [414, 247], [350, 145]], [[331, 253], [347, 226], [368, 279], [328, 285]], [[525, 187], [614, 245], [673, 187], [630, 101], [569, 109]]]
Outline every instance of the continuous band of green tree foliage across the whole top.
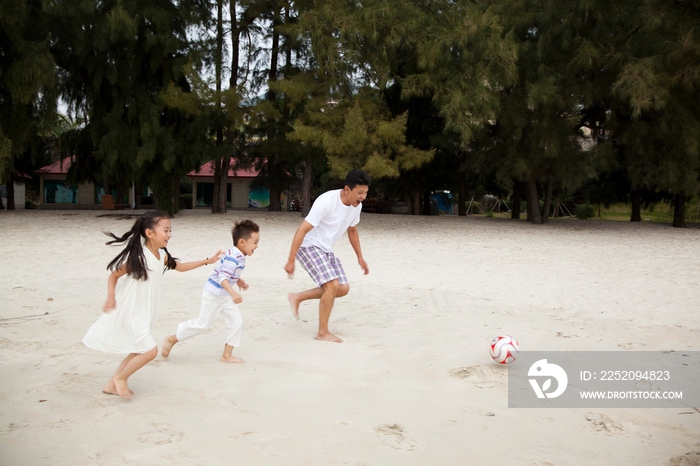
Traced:
[[[357, 167], [425, 208], [524, 185], [534, 206], [691, 197], [699, 18], [672, 0], [6, 1], [0, 179], [50, 135], [73, 181], [149, 184], [174, 209], [176, 180], [231, 155], [271, 190]], [[76, 124], [53, 124], [59, 91]]]

